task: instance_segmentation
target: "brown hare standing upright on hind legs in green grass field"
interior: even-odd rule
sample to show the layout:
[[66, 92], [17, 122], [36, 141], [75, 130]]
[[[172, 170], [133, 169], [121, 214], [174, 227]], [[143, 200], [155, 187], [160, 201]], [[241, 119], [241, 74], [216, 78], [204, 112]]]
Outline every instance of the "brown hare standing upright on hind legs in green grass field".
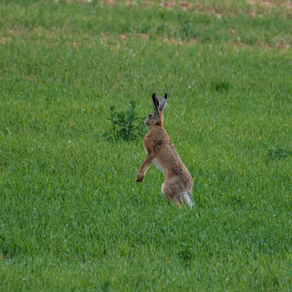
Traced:
[[153, 162], [166, 178], [161, 188], [166, 199], [178, 205], [184, 205], [183, 198], [187, 205], [192, 206], [194, 204], [191, 196], [193, 179], [163, 128], [163, 110], [166, 101], [166, 93], [160, 102], [156, 93], [152, 95], [155, 111], [149, 113], [144, 121], [145, 125], [149, 127], [144, 138], [147, 157], [138, 170], [136, 182], [140, 183], [144, 180], [146, 171]]

